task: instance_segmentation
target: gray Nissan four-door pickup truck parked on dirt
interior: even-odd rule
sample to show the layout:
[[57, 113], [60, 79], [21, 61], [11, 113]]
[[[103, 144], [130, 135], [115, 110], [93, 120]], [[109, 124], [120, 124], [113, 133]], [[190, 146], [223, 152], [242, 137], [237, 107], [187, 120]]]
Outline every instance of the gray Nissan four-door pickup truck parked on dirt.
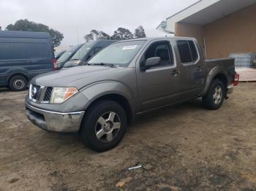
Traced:
[[78, 131], [103, 152], [139, 114], [200, 97], [207, 109], [219, 109], [237, 83], [234, 60], [205, 61], [195, 39], [132, 39], [111, 44], [85, 66], [32, 79], [26, 114], [44, 130]]

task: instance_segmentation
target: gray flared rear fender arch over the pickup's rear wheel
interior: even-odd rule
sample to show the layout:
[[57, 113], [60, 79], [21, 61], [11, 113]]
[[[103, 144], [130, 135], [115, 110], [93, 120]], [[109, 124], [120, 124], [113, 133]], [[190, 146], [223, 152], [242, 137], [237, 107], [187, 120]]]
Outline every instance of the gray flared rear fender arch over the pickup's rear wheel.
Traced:
[[225, 70], [225, 67], [224, 66], [215, 66], [208, 73], [208, 76], [206, 78], [206, 85], [205, 85], [205, 88], [203, 89], [202, 95], [206, 95], [206, 93], [208, 92], [208, 89], [211, 86], [211, 82], [213, 81], [214, 77], [217, 76], [217, 74], [222, 74], [227, 79], [227, 71]]

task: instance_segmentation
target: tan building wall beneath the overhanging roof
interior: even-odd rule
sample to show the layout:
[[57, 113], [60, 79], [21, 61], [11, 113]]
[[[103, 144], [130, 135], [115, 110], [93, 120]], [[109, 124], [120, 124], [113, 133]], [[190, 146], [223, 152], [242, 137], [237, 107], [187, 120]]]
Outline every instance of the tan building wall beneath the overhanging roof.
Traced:
[[234, 52], [256, 52], [256, 4], [227, 15], [206, 26], [176, 23], [176, 36], [192, 36], [203, 47], [207, 58], [225, 58]]

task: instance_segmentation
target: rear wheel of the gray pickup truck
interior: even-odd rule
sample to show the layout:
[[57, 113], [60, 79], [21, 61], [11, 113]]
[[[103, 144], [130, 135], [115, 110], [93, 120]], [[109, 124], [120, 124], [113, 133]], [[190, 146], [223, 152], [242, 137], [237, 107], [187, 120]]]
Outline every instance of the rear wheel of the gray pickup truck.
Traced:
[[225, 86], [219, 79], [214, 79], [208, 93], [203, 96], [203, 106], [206, 109], [217, 110], [219, 109], [225, 98]]

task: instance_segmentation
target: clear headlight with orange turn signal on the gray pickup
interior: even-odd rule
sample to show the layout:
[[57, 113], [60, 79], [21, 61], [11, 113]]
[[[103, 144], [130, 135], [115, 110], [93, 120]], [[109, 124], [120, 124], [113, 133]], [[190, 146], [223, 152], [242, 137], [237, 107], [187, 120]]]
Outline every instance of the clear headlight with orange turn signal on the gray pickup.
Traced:
[[50, 104], [62, 104], [67, 99], [78, 93], [75, 87], [53, 87]]

